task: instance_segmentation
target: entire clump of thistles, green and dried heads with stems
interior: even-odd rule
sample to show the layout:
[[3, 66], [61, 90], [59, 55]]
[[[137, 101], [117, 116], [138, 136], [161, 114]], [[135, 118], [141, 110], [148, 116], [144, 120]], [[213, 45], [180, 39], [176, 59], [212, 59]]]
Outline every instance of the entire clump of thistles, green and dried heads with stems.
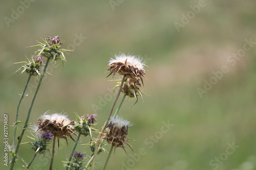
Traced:
[[[63, 42], [57, 36], [47, 37], [46, 39], [42, 39], [42, 41], [42, 43], [39, 42], [38, 45], [33, 46], [40, 48], [35, 52], [33, 56], [30, 57], [30, 59], [27, 59], [27, 62], [19, 62], [24, 65], [18, 70], [26, 72], [28, 74], [28, 80], [17, 106], [12, 143], [12, 148], [14, 148], [14, 150], [10, 150], [10, 154], [12, 155], [10, 169], [13, 169], [14, 167], [15, 161], [17, 159], [19, 145], [22, 144], [20, 142], [22, 141], [25, 131], [29, 126], [31, 110], [40, 84], [44, 78], [44, 75], [47, 73], [47, 66], [52, 61], [54, 61], [54, 63], [56, 60], [62, 60], [62, 63], [63, 61], [66, 61], [63, 52], [67, 50], [60, 49]], [[67, 146], [70, 145], [70, 143], [68, 143], [68, 138], [74, 141], [74, 143], [71, 141], [71, 144], [74, 145], [67, 161], [63, 161], [66, 170], [94, 170], [97, 155], [102, 152], [108, 154], [103, 167], [104, 170], [108, 165], [113, 150], [115, 151], [116, 148], [122, 148], [126, 154], [127, 147], [133, 151], [132, 146], [130, 145], [131, 139], [128, 137], [128, 130], [132, 124], [128, 120], [121, 118], [119, 111], [126, 96], [128, 96], [129, 99], [135, 98], [135, 105], [139, 100], [139, 96], [142, 98], [142, 94], [145, 94], [141, 90], [141, 87], [143, 86], [143, 78], [145, 78], [145, 64], [139, 57], [121, 53], [116, 55], [115, 58], [111, 58], [108, 66], [109, 68], [107, 71], [109, 71], [110, 74], [107, 77], [111, 75], [114, 77], [116, 74], [119, 74], [121, 79], [113, 80], [117, 83], [117, 85], [113, 88], [113, 91], [118, 89], [118, 92], [101, 129], [95, 129], [95, 126], [97, 125], [96, 114], [84, 114], [79, 116], [78, 113], [75, 113], [76, 120], [70, 120], [67, 114], [62, 113], [50, 114], [49, 112], [46, 112], [42, 114], [38, 118], [35, 135], [32, 134], [32, 137], [30, 137], [32, 141], [24, 142], [30, 143], [31, 148], [35, 151], [30, 163], [26, 163], [26, 161], [23, 160], [25, 163], [23, 167], [25, 169], [29, 169], [37, 154], [46, 154], [47, 152], [50, 152], [50, 150], [47, 148], [49, 145], [52, 145], [52, 151], [50, 152], [51, 161], [49, 165], [49, 170], [52, 170], [56, 139], [58, 142], [58, 148], [60, 139], [65, 139]], [[25, 96], [27, 86], [32, 76], [39, 77], [40, 79], [33, 95], [22, 133], [19, 135], [17, 145], [15, 147], [16, 129], [18, 124], [23, 123], [22, 121], [19, 121], [18, 118], [19, 107]], [[123, 97], [113, 114], [121, 92], [123, 93]], [[98, 135], [98, 137], [95, 137], [96, 135]], [[76, 139], [73, 138], [74, 136], [77, 136]], [[80, 138], [86, 138], [87, 141], [80, 140]], [[89, 148], [89, 151], [77, 152], [76, 148], [78, 144], [85, 145]], [[105, 149], [106, 145], [111, 146], [109, 152]]]

